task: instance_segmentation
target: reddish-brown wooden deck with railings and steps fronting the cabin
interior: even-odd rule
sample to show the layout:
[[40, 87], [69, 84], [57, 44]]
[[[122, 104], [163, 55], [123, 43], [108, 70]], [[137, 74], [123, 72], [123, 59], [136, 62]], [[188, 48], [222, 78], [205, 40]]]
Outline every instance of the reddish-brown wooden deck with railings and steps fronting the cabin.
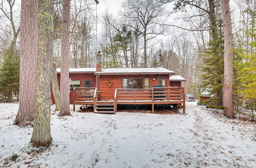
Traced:
[[93, 105], [95, 113], [113, 114], [118, 110], [118, 104], [151, 104], [152, 113], [155, 111], [155, 104], [177, 104], [185, 113], [185, 94], [184, 88], [181, 87], [116, 89], [113, 99], [100, 100], [97, 88], [74, 88], [74, 111], [76, 104]]

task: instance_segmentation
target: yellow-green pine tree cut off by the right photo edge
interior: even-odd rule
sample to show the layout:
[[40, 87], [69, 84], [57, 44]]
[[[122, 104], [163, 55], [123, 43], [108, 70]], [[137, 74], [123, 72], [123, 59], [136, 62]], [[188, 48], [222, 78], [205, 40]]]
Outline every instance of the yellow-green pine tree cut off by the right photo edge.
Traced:
[[[251, 110], [251, 118], [254, 121], [254, 111], [256, 108], [256, 37], [255, 34], [255, 16], [256, 12], [252, 9], [243, 11], [250, 17], [247, 20], [250, 28], [244, 31], [247, 41], [242, 46], [237, 46], [234, 50], [234, 83], [233, 93], [238, 95], [239, 105]], [[245, 23], [245, 21], [242, 21]], [[242, 101], [243, 100], [243, 101]], [[242, 102], [241, 102], [242, 101]]]

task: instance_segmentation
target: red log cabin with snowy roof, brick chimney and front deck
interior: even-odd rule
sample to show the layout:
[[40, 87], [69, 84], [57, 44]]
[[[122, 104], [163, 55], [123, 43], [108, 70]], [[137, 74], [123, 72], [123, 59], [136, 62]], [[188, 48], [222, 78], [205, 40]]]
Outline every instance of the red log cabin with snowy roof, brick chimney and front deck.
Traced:
[[[114, 106], [110, 107], [114, 108], [114, 111], [116, 111], [118, 103], [152, 104], [153, 112], [153, 104], [178, 104], [183, 107], [183, 112], [185, 109], [184, 88], [181, 88], [181, 81], [185, 81], [185, 79], [165, 68], [102, 68], [101, 61], [98, 59], [96, 68], [70, 68], [69, 74], [72, 80], [70, 104], [74, 105], [73, 110], [75, 110], [75, 104], [88, 104], [94, 105], [96, 111], [97, 108], [100, 108], [97, 107], [100, 105], [99, 103]], [[60, 83], [59, 68], [57, 68], [57, 77]], [[151, 87], [155, 85], [162, 85], [163, 93], [159, 93], [159, 90], [152, 90]], [[158, 97], [157, 100], [161, 98], [152, 96], [153, 92], [156, 92], [155, 95], [164, 94], [165, 98], [162, 99], [166, 102], [155, 101], [155, 97]], [[86, 97], [84, 94], [91, 96]], [[51, 95], [54, 103], [53, 94]], [[177, 102], [175, 102], [176, 100]], [[183, 105], [181, 106], [181, 104]]]

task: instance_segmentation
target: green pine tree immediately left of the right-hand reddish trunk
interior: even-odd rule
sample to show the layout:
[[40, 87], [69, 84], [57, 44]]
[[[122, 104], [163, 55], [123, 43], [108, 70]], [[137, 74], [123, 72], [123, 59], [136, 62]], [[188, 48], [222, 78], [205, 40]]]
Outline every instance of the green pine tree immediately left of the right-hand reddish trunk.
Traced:
[[216, 12], [214, 20], [215, 33], [211, 33], [209, 47], [204, 52], [203, 65], [201, 66], [203, 74], [201, 75], [202, 84], [199, 88], [207, 90], [213, 98], [207, 103], [215, 108], [223, 108], [223, 74], [224, 74], [224, 39], [223, 39], [223, 21], [220, 16], [220, 9]]

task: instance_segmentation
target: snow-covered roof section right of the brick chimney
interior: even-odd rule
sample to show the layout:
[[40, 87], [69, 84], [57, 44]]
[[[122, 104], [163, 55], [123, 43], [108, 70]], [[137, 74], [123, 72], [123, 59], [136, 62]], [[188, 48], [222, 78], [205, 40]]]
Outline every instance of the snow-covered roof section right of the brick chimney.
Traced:
[[120, 74], [120, 73], [166, 73], [166, 74], [175, 74], [174, 71], [170, 71], [165, 68], [102, 68], [102, 71], [95, 72], [95, 74]]

